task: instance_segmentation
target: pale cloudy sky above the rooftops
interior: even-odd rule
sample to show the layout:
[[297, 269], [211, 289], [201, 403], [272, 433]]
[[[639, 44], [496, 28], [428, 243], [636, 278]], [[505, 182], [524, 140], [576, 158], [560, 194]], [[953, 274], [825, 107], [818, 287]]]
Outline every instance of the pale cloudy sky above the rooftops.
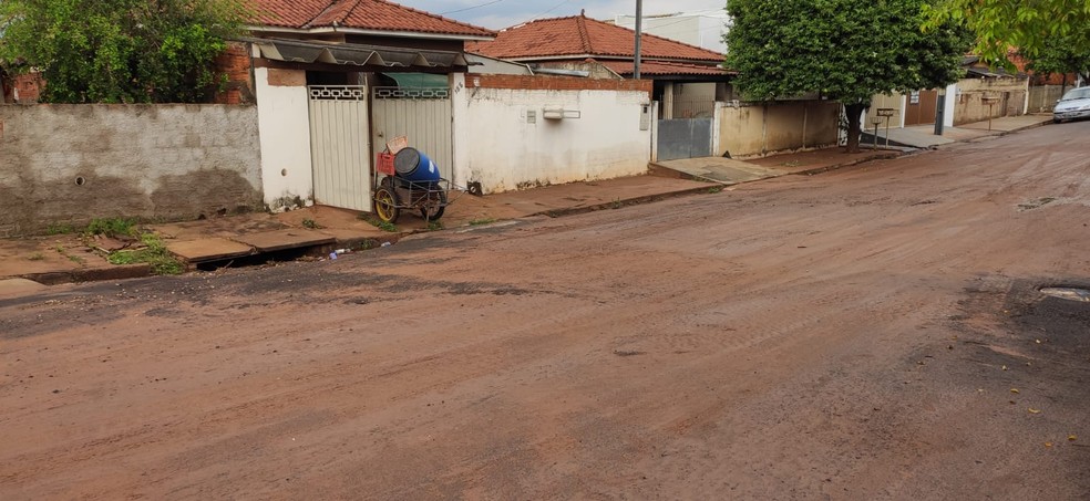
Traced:
[[[587, 17], [614, 19], [636, 13], [636, 0], [393, 0], [405, 7], [469, 22], [494, 30], [537, 18], [575, 15], [586, 9]], [[644, 15], [675, 12], [721, 11], [726, 0], [644, 0]]]

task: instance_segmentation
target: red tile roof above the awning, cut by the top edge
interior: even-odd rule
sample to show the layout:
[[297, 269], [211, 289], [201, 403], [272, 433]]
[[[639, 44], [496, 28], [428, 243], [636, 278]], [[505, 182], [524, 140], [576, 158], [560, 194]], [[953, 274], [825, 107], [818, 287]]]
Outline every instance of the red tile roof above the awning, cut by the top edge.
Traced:
[[495, 32], [385, 0], [250, 0], [255, 22], [276, 28], [348, 28], [374, 31], [493, 36]]

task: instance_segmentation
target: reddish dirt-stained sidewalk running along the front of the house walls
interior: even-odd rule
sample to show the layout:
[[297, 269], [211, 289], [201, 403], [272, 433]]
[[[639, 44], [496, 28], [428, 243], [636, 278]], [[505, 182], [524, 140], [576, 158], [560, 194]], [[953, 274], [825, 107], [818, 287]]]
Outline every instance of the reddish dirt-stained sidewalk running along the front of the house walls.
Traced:
[[[1020, 119], [994, 121], [991, 131], [987, 131], [987, 123], [983, 131], [979, 124], [959, 127], [959, 131], [967, 131], [959, 140], [997, 136], [1050, 121], [1050, 117], [1043, 119], [1041, 115], [1014, 118]], [[329, 253], [336, 250], [370, 249], [420, 231], [615, 209], [686, 194], [716, 192], [723, 185], [816, 174], [899, 155], [899, 150], [884, 149], [849, 155], [841, 148], [827, 148], [744, 161], [717, 158], [671, 160], [652, 164], [650, 170], [654, 175], [647, 176], [572, 182], [484, 197], [452, 192], [451, 203], [440, 221], [429, 223], [417, 215], [403, 213], [395, 231], [384, 231], [372, 225], [373, 218], [369, 213], [323, 206], [277, 215], [225, 216], [143, 225], [142, 228], [156, 233], [167, 249], [191, 269], [260, 263], [268, 259], [329, 259]], [[671, 163], [686, 168], [668, 167]], [[686, 173], [701, 173], [701, 169], [707, 170], [708, 166], [716, 165], [724, 168], [714, 177], [707, 171], [697, 175]], [[106, 251], [123, 244], [111, 239], [88, 239], [78, 233], [0, 239], [0, 298], [24, 294], [42, 285], [150, 275], [152, 271], [147, 264], [115, 265], [106, 261]]]

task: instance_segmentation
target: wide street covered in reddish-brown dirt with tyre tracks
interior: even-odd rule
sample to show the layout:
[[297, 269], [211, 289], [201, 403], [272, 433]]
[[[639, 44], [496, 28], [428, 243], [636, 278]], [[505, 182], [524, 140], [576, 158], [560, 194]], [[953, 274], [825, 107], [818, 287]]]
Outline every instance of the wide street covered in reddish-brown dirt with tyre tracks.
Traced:
[[0, 499], [1087, 499], [1088, 138], [0, 300]]

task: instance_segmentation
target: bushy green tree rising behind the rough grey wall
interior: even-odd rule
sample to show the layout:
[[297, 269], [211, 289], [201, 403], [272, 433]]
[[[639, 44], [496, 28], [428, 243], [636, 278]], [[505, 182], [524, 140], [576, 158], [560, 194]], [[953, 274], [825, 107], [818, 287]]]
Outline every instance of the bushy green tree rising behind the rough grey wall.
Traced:
[[243, 19], [236, 0], [0, 0], [0, 61], [41, 71], [47, 102], [203, 102]]

